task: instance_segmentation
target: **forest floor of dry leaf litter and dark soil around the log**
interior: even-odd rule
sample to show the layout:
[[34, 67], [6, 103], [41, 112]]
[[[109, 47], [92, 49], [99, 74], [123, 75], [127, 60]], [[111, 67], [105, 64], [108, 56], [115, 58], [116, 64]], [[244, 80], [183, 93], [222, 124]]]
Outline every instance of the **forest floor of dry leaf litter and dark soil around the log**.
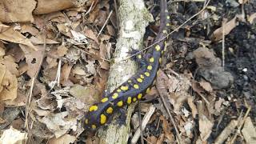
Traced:
[[[118, 4], [32, 1], [0, 2], [0, 143], [98, 143], [82, 118], [106, 86]], [[145, 3], [154, 17], [146, 47], [159, 3]], [[168, 46], [128, 142], [154, 106], [145, 143], [256, 143], [256, 1], [168, 1], [168, 10]]]

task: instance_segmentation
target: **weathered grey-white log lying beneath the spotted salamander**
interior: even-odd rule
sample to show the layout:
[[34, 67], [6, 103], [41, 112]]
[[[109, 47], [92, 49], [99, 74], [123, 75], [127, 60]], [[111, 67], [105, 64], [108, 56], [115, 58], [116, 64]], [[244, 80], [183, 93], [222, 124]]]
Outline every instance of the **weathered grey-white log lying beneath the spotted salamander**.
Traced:
[[[136, 63], [122, 58], [129, 56], [131, 48], [142, 49], [146, 26], [153, 21], [152, 15], [146, 10], [142, 0], [119, 0], [118, 22], [119, 37], [114, 53], [114, 63], [110, 66], [110, 76], [107, 82], [108, 90], [113, 91], [130, 78], [137, 70]], [[130, 118], [135, 105], [128, 107], [126, 125], [119, 126], [113, 118], [107, 129], [99, 130], [100, 143], [127, 143], [130, 133]]]

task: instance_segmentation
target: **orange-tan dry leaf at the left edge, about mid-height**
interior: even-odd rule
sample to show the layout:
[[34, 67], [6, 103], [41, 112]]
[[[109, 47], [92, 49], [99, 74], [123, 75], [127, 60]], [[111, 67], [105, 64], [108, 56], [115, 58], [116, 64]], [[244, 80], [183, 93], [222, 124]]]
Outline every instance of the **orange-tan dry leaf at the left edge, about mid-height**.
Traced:
[[14, 100], [17, 98], [18, 81], [14, 74], [0, 63], [0, 100]]

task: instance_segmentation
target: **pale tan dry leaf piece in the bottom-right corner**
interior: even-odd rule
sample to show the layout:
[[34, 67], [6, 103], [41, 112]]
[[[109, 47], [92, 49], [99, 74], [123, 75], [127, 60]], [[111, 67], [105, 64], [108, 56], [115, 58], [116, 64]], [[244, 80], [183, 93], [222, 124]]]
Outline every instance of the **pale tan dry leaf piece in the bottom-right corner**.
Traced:
[[256, 129], [250, 117], [246, 118], [242, 128], [242, 135], [246, 139], [246, 143], [256, 143]]

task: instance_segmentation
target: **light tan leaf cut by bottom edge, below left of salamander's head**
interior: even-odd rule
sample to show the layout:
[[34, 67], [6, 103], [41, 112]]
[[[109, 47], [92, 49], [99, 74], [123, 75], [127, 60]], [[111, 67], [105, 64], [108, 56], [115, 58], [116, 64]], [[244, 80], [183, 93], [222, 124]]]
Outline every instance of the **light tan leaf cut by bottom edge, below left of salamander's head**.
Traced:
[[74, 143], [74, 141], [77, 138], [70, 135], [70, 134], [65, 134], [62, 135], [62, 137], [60, 138], [51, 138], [49, 141], [49, 144], [70, 144], [70, 143]]

